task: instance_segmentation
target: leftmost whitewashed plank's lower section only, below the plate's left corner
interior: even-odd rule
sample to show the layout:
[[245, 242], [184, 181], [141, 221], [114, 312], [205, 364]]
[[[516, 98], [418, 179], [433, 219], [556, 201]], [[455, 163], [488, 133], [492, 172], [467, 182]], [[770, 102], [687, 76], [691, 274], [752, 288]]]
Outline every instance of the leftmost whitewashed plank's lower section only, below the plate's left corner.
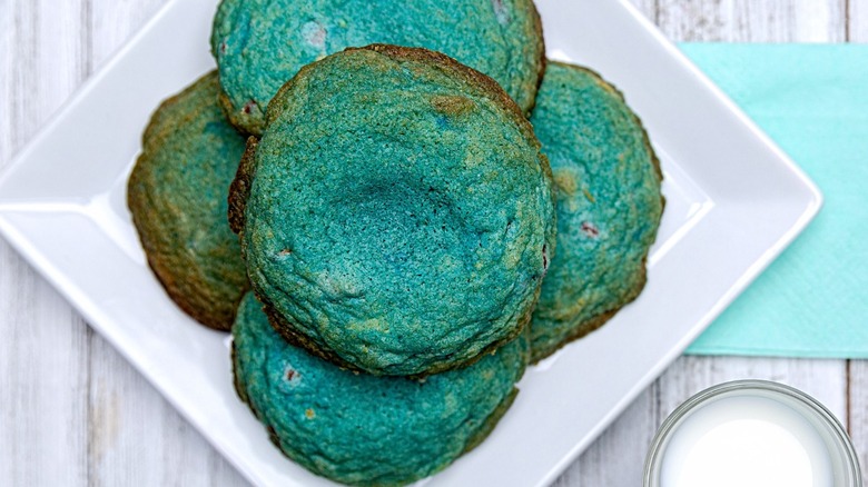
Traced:
[[0, 240], [0, 485], [86, 485], [88, 328]]

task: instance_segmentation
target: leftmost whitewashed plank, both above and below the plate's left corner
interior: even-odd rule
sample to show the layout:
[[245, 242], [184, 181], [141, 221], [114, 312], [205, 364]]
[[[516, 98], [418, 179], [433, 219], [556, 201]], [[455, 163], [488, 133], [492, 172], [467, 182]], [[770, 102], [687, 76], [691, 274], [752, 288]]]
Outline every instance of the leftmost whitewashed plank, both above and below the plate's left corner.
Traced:
[[[0, 170], [85, 78], [83, 1], [0, 8]], [[88, 328], [0, 241], [0, 485], [86, 485]]]

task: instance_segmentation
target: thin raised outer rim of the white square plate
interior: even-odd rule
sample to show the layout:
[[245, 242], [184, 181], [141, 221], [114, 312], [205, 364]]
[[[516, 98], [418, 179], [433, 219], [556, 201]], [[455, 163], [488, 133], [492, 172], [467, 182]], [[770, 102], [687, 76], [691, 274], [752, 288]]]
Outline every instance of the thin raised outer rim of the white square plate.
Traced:
[[[95, 73], [89, 77], [79, 89], [77, 89], [62, 105], [61, 107], [49, 117], [48, 121], [42, 128], [21, 148], [6, 165], [0, 173], [0, 188], [4, 186], [8, 179], [13, 177], [16, 169], [22, 166], [32, 150], [42, 145], [45, 139], [53, 131], [53, 129], [61, 125], [67, 115], [75, 110], [81, 99], [90, 93], [99, 81], [110, 72], [115, 66], [125, 58], [125, 56], [142, 39], [146, 37], [156, 24], [162, 20], [162, 18], [181, 0], [168, 0], [164, 3], [157, 12], [145, 24], [131, 36], [124, 44], [117, 49], [107, 61], [101, 63]], [[807, 176], [807, 173], [797, 166], [792, 159], [783, 152], [779, 146], [765, 132], [757, 123], [750, 119], [739, 106], [732, 101], [711, 79], [702, 72], [687, 56], [681, 52], [678, 47], [667, 39], [663, 33], [655, 27], [649, 19], [647, 19], [635, 6], [628, 0], [618, 0], [618, 3], [624, 8], [631, 17], [638, 21], [643, 29], [651, 33], [654, 39], [663, 47], [670, 56], [673, 56], [680, 64], [687, 67], [692, 76], [693, 80], [700, 82], [707, 91], [709, 91], [723, 107], [732, 115], [734, 115], [739, 122], [749, 129], [751, 136], [756, 137], [758, 141], [766, 148], [770, 149], [776, 157], [780, 170], [786, 170], [790, 175], [795, 176], [798, 182], [807, 190], [805, 201], [805, 209], [799, 213], [798, 218], [789, 225], [788, 229], [780, 233], [773, 245], [765, 248], [762, 255], [752, 262], [740, 277], [733, 282], [726, 292], [718, 297], [714, 306], [712, 306], [693, 326], [690, 328], [690, 332], [681, 337], [678, 345], [670, 349], [669, 352], [662, 355], [657, 365], [649, 369], [641, 380], [635, 382], [633, 387], [622, 396], [621, 400], [609, 411], [609, 414], [596, 423], [594, 428], [586, 435], [588, 440], [578, 441], [561, 460], [552, 466], [549, 473], [543, 476], [537, 485], [546, 485], [554, 480], [565, 468], [572, 465], [579, 455], [589, 446], [593, 438], [606, 429], [622, 413], [623, 410], [635, 400], [635, 398], [657, 378], [665, 368], [668, 368], [678, 356], [710, 324], [717, 318], [734, 299], [743, 292], [748, 286], [750, 286], [762, 271], [780, 256], [780, 254], [803, 231], [807, 226], [817, 216], [823, 205], [823, 196], [817, 185]], [[98, 308], [88, 306], [87, 300], [82, 300], [78, 296], [77, 286], [71, 281], [69, 276], [53, 267], [52, 262], [45, 258], [39, 251], [38, 245], [36, 245], [31, 238], [29, 238], [24, 231], [21, 231], [12, 221], [7, 218], [7, 212], [13, 211], [0, 203], [0, 236], [2, 236], [12, 248], [34, 269], [39, 275], [45, 278], [51, 286], [76, 309], [85, 317], [88, 325], [96, 329], [103, 338], [109, 341], [112, 347], [118, 350], [137, 370], [141, 374], [152, 387], [160, 391], [160, 395], [172, 405], [172, 407], [189, 423], [194, 424], [196, 428], [203, 434], [208, 443], [246, 477], [248, 480], [258, 481], [262, 480], [259, 475], [249, 469], [249, 467], [240, 461], [237, 456], [227, 448], [220, 441], [215, 440], [214, 437], [207, 434], [207, 428], [197, 419], [196, 415], [188, 411], [187, 408], [181, 406], [181, 400], [175, 397], [162, 382], [160, 377], [151, 375], [142, 366], [141, 359], [136, 358], [134, 351], [129, 349], [124, 340], [119, 339], [112, 331], [110, 318], [101, 316], [102, 314]], [[296, 479], [290, 479], [293, 483], [297, 483]]]

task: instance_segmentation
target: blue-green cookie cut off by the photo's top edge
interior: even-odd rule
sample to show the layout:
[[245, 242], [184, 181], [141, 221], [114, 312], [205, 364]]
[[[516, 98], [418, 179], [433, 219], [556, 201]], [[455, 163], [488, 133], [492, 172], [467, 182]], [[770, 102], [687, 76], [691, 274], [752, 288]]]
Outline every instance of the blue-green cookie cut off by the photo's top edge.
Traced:
[[494, 78], [525, 113], [545, 60], [532, 0], [223, 0], [211, 52], [224, 108], [258, 136], [269, 100], [303, 66], [369, 43], [453, 57]]

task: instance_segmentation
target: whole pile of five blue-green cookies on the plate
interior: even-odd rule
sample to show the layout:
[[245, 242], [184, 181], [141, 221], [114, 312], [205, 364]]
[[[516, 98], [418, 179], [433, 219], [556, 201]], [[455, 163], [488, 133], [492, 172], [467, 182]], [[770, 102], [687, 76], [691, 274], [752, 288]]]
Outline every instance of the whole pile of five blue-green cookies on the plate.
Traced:
[[238, 395], [310, 471], [445, 468], [530, 362], [644, 286], [659, 163], [611, 85], [546, 67], [531, 0], [223, 0], [211, 48], [218, 70], [155, 113], [128, 202], [168, 295], [231, 329]]

